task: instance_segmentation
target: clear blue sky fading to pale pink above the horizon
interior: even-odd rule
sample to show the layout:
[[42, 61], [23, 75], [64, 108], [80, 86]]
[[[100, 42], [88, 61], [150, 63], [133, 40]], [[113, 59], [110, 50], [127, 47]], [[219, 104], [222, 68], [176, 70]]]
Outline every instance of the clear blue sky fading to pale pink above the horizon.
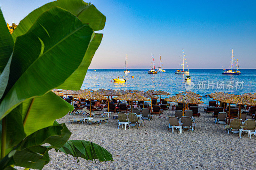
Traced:
[[[7, 23], [18, 24], [48, 0], [1, 0]], [[149, 68], [161, 55], [177, 68], [182, 49], [189, 68], [256, 68], [256, 1], [91, 0], [106, 17], [102, 42], [89, 68]]]

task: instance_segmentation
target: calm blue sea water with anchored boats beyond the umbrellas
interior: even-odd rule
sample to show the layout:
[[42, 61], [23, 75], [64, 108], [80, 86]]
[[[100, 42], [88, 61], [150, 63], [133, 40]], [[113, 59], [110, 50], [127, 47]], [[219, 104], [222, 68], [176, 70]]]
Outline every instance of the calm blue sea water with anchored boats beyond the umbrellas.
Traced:
[[[186, 86], [192, 87], [194, 83], [191, 91], [200, 94], [202, 101], [207, 104], [212, 99], [205, 95], [216, 91], [236, 95], [246, 92], [256, 93], [256, 69], [240, 69], [241, 75], [222, 75], [222, 69], [189, 69], [191, 83], [185, 81], [186, 75], [175, 74], [176, 69], [165, 69], [165, 73], [158, 74], [148, 74], [148, 69], [129, 69], [128, 74], [124, 73], [124, 69], [95, 70], [88, 69], [82, 89], [164, 90], [171, 94], [162, 96], [167, 98], [187, 91]], [[127, 81], [124, 83], [113, 81], [113, 78], [119, 75], [124, 75]], [[132, 75], [134, 78], [131, 77]]]

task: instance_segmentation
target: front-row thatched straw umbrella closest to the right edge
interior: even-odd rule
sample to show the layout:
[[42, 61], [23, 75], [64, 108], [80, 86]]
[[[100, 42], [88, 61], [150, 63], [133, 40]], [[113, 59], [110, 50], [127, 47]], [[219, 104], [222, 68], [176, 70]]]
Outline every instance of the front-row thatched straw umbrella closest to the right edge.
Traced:
[[241, 95], [232, 96], [227, 99], [221, 99], [220, 101], [239, 105], [239, 119], [241, 118], [241, 105], [256, 105], [256, 100], [248, 96]]

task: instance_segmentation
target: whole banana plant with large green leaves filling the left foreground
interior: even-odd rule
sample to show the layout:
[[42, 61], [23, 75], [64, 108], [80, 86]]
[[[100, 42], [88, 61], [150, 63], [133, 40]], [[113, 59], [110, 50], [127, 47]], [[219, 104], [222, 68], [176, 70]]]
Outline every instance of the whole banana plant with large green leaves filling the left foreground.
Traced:
[[90, 3], [59, 0], [32, 11], [11, 35], [0, 10], [0, 169], [42, 169], [50, 149], [113, 161], [97, 144], [68, 140], [71, 132], [55, 120], [73, 106], [51, 92], [81, 88], [103, 37], [94, 31], [105, 21]]

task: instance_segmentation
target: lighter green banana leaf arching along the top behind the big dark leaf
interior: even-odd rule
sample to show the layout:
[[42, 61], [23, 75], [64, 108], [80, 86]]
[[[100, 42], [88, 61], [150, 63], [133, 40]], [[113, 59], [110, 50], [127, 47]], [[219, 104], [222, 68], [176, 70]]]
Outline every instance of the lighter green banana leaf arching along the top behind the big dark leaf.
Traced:
[[42, 13], [49, 10], [53, 6], [59, 6], [67, 11], [70, 11], [83, 23], [88, 23], [94, 31], [102, 30], [105, 26], [106, 17], [100, 13], [100, 11], [98, 11], [94, 5], [85, 3], [83, 0], [59, 0], [50, 2], [37, 8], [22, 19], [15, 31], [12, 33], [14, 42], [18, 36], [28, 32], [30, 27]]

